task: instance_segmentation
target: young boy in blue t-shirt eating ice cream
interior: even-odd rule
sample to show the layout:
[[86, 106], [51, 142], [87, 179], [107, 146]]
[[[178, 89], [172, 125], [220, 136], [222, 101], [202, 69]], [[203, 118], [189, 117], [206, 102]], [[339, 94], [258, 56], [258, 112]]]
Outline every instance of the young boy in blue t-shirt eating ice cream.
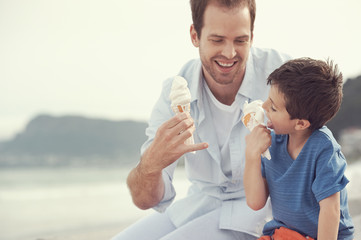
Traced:
[[[332, 62], [301, 58], [267, 83], [263, 108], [272, 131], [259, 125], [246, 137], [244, 171], [248, 206], [259, 210], [268, 196], [272, 203], [273, 219], [260, 239], [353, 239], [346, 160], [324, 126], [340, 108], [342, 74]], [[271, 160], [261, 159], [268, 147]]]

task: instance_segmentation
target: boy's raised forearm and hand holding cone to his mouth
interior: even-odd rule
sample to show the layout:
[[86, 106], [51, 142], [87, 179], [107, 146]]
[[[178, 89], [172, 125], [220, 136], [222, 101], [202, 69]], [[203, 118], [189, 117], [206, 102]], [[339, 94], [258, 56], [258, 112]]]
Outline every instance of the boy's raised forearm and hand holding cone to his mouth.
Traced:
[[269, 130], [257, 126], [246, 137], [246, 163], [243, 174], [247, 205], [253, 210], [262, 209], [268, 199], [267, 182], [261, 172], [261, 154], [271, 145]]

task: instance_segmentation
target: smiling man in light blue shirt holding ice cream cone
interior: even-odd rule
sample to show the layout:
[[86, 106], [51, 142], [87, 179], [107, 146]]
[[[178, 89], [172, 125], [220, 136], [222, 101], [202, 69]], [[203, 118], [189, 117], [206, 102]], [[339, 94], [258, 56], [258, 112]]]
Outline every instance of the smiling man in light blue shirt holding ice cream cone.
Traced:
[[[287, 56], [252, 47], [254, 0], [191, 0], [190, 36], [200, 60], [179, 75], [188, 81], [191, 112], [174, 116], [164, 82], [146, 130], [139, 164], [128, 176], [133, 202], [158, 212], [113, 239], [256, 239], [268, 208], [252, 211], [243, 189], [245, 101], [265, 100], [267, 76]], [[193, 133], [194, 145], [184, 141]], [[195, 151], [193, 154], [191, 152]], [[172, 203], [177, 159], [185, 156], [192, 185]]]

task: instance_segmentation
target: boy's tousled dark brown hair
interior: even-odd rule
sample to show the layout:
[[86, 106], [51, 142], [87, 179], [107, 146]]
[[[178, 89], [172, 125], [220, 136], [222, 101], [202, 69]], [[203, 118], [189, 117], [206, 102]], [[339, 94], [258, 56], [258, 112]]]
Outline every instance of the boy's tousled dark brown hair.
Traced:
[[342, 73], [333, 61], [299, 58], [273, 71], [267, 84], [276, 85], [284, 94], [291, 119], [306, 119], [310, 130], [331, 120], [342, 102]]

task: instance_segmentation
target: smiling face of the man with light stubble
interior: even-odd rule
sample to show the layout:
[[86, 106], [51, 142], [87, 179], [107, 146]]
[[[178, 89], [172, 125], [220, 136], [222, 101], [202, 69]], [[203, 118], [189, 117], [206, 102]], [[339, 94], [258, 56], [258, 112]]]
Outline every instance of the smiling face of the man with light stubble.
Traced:
[[201, 38], [193, 26], [191, 38], [199, 47], [203, 73], [208, 84], [242, 82], [252, 44], [248, 7], [227, 9], [210, 4], [204, 13]]

